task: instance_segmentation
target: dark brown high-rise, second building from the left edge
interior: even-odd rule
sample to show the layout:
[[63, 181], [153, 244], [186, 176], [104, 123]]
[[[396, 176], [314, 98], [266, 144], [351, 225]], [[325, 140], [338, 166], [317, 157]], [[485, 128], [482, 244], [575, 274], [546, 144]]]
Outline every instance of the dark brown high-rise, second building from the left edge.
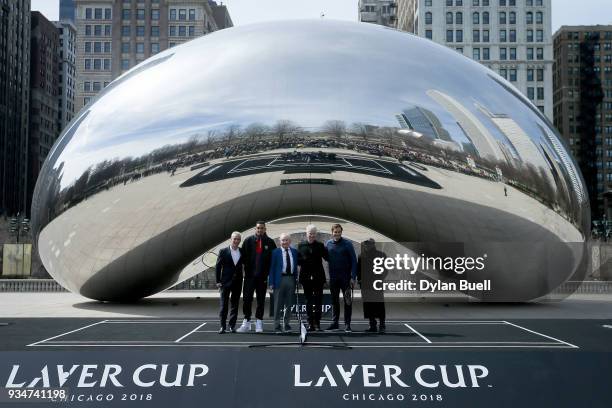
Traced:
[[28, 209], [40, 169], [60, 131], [59, 31], [38, 11], [31, 13], [31, 24]]

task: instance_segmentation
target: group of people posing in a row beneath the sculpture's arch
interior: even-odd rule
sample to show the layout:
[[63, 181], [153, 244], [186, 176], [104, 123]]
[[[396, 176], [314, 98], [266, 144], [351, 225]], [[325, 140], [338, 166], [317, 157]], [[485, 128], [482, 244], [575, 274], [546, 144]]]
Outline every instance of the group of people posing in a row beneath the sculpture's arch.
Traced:
[[[258, 221], [255, 234], [242, 240], [239, 232], [231, 235], [230, 246], [221, 249], [217, 258], [217, 287], [221, 294], [219, 333], [246, 333], [252, 330], [252, 304], [255, 294], [255, 332], [263, 332], [263, 315], [266, 291], [274, 295], [274, 331], [291, 330], [289, 320], [296, 285], [302, 285], [306, 298], [306, 311], [309, 331], [321, 331], [321, 306], [323, 286], [326, 282], [323, 260], [329, 266], [329, 288], [332, 298], [332, 323], [326, 330], [339, 330], [340, 293], [344, 303], [344, 331], [351, 331], [352, 289], [360, 268], [353, 244], [342, 238], [342, 226], [331, 227], [332, 239], [325, 244], [317, 241], [317, 228], [306, 227], [305, 241], [297, 249], [291, 247], [289, 234], [281, 234], [281, 247], [277, 248], [273, 239], [266, 235], [266, 224]], [[361, 263], [361, 260], [359, 261]], [[299, 272], [299, 273], [298, 273]], [[238, 303], [243, 293], [244, 320], [236, 329]], [[229, 306], [229, 322], [227, 321]], [[382, 311], [376, 308], [375, 316], [370, 313], [370, 327], [367, 331], [384, 332], [384, 305]], [[370, 308], [370, 311], [373, 309]], [[364, 305], [364, 312], [365, 305]], [[281, 325], [281, 316], [283, 322]], [[380, 320], [376, 327], [376, 317]]]

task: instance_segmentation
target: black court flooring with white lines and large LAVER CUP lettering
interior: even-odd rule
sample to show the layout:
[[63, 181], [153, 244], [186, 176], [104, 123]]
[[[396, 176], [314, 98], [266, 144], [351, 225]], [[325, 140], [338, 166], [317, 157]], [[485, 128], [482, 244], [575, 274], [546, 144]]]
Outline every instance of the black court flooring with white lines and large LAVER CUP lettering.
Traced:
[[[307, 346], [295, 320], [284, 334], [271, 321], [218, 334], [208, 318], [0, 322], [0, 408], [612, 406], [606, 320], [390, 320], [385, 334], [356, 320]], [[65, 399], [9, 398], [46, 386]]]

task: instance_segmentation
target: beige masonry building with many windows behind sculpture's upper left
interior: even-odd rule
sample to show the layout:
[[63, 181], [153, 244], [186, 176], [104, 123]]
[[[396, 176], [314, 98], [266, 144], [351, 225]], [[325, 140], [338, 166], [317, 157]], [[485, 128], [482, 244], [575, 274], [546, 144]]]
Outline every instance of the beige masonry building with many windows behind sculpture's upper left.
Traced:
[[[208, 0], [75, 0], [76, 111], [152, 55], [219, 29]], [[225, 6], [217, 14], [231, 24]]]

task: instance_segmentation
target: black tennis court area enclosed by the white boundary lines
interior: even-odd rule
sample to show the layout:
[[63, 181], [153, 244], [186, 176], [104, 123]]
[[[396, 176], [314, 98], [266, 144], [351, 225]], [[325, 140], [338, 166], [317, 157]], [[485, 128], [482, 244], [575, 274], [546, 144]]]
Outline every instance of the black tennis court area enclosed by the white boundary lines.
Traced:
[[[323, 327], [326, 322], [323, 322]], [[254, 326], [254, 325], [253, 325]], [[215, 320], [103, 319], [76, 329], [28, 343], [39, 347], [291, 347], [298, 342], [298, 325], [276, 334], [273, 322], [264, 322], [264, 332], [219, 334]], [[366, 322], [353, 322], [353, 331], [309, 333], [310, 346], [347, 348], [568, 348], [579, 346], [506, 320], [393, 320], [386, 332], [366, 333]]]

